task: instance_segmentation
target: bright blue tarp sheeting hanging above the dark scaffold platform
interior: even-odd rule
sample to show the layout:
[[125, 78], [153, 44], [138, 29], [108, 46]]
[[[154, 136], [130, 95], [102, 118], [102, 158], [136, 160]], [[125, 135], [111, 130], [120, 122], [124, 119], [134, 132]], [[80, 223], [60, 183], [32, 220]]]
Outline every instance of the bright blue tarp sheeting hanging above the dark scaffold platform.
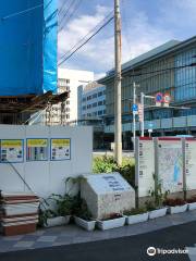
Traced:
[[57, 0], [0, 3], [0, 96], [57, 91]]

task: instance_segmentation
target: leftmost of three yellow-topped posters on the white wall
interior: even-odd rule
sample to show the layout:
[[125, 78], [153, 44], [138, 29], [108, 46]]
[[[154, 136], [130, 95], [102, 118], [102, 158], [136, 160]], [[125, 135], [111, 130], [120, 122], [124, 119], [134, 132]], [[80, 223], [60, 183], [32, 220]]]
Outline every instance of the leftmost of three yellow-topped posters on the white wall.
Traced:
[[24, 161], [23, 139], [1, 139], [1, 162], [20, 163]]

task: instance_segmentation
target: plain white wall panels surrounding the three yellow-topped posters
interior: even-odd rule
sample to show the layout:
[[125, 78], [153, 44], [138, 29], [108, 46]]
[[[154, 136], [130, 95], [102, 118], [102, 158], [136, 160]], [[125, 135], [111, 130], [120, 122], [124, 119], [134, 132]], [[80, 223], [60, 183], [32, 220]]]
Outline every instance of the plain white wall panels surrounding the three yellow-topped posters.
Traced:
[[[62, 161], [26, 161], [26, 138], [70, 138], [71, 159]], [[64, 192], [64, 181], [91, 172], [91, 127], [9, 126], [0, 125], [0, 139], [24, 139], [24, 162], [13, 163], [30, 188], [41, 197]], [[50, 156], [50, 146], [48, 148]], [[27, 188], [11, 164], [0, 162], [0, 190], [25, 191]]]

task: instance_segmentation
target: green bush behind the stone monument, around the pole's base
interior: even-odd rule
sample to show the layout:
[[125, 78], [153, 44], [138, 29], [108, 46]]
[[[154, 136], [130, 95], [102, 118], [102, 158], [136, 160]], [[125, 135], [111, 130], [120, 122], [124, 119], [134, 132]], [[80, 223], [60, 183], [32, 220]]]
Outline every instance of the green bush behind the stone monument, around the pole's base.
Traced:
[[97, 157], [93, 163], [94, 173], [119, 172], [130, 185], [135, 187], [135, 163], [134, 159], [123, 158], [122, 166], [118, 166], [113, 157]]

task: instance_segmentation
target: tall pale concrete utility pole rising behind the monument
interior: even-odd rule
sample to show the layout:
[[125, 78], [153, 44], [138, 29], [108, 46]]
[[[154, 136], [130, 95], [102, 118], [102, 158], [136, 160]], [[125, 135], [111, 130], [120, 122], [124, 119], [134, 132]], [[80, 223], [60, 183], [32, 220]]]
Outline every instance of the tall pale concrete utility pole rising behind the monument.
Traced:
[[115, 79], [114, 79], [114, 152], [118, 165], [122, 164], [121, 113], [121, 14], [120, 0], [114, 0]]

